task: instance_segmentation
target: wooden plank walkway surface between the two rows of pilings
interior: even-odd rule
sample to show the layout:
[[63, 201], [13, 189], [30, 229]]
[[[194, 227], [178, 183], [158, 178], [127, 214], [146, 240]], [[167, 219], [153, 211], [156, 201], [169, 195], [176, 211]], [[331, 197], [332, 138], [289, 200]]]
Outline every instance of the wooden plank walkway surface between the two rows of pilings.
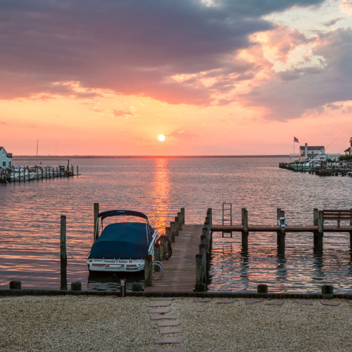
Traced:
[[196, 254], [203, 225], [182, 225], [172, 243], [172, 256], [163, 260], [163, 278], [153, 278], [146, 292], [192, 292], [196, 282]]

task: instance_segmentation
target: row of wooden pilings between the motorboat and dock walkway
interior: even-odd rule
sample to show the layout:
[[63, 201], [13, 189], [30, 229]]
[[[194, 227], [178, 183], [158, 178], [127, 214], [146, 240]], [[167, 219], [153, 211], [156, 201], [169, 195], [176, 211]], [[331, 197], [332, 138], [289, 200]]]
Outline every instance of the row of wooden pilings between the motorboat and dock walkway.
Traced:
[[158, 265], [154, 266], [153, 261], [163, 262], [167, 260], [170, 248], [170, 242], [175, 243], [176, 237], [180, 235], [180, 230], [182, 230], [182, 225], [184, 225], [184, 208], [177, 212], [174, 221], [170, 222], [170, 227], [165, 227], [165, 234], [159, 236], [158, 241], [154, 244], [154, 258], [153, 256], [147, 255], [144, 258], [144, 285], [145, 287], [151, 287], [153, 285], [153, 270], [156, 272], [160, 271]]

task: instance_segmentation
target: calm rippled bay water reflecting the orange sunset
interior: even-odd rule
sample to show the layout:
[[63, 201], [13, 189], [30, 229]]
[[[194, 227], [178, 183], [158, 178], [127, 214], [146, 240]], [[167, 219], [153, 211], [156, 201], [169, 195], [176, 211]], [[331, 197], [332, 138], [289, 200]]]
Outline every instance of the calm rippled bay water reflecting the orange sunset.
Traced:
[[[313, 208], [352, 208], [351, 177], [318, 177], [278, 168], [282, 158], [73, 159], [80, 177], [0, 185], [0, 288], [11, 279], [23, 288], [60, 287], [60, 216], [67, 216], [68, 282], [87, 289], [118, 289], [118, 277], [89, 277], [86, 258], [93, 239], [93, 203], [101, 210], [127, 208], [149, 215], [163, 232], [180, 208], [187, 223], [203, 222], [213, 208], [221, 222], [222, 202], [232, 203], [234, 223], [241, 208], [249, 223], [275, 224], [276, 209], [290, 224], [311, 224]], [[51, 164], [57, 165], [57, 163]], [[320, 292], [323, 283], [351, 292], [349, 234], [325, 234], [323, 253], [313, 234], [287, 234], [284, 256], [276, 234], [213, 235], [210, 291]], [[131, 280], [138, 281], [135, 277]]]

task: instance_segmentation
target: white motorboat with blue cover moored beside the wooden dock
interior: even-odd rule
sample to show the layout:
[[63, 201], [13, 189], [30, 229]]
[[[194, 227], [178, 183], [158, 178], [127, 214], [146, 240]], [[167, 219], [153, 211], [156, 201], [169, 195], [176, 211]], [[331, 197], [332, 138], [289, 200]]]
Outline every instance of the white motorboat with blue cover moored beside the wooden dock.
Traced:
[[[104, 219], [121, 216], [129, 221], [113, 222], [103, 227]], [[130, 221], [132, 217], [139, 221]], [[144, 213], [134, 210], [103, 211], [98, 215], [96, 229], [98, 237], [87, 259], [89, 272], [144, 270], [144, 257], [147, 254], [153, 256], [154, 244], [158, 240], [158, 230], [149, 225]]]

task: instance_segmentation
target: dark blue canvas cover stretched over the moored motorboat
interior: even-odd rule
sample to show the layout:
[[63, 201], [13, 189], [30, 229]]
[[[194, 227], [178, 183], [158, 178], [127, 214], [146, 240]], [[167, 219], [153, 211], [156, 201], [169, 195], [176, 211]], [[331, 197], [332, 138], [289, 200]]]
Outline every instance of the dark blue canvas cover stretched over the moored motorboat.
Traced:
[[153, 234], [149, 225], [148, 241], [146, 224], [117, 222], [105, 227], [94, 242], [88, 259], [144, 259]]

